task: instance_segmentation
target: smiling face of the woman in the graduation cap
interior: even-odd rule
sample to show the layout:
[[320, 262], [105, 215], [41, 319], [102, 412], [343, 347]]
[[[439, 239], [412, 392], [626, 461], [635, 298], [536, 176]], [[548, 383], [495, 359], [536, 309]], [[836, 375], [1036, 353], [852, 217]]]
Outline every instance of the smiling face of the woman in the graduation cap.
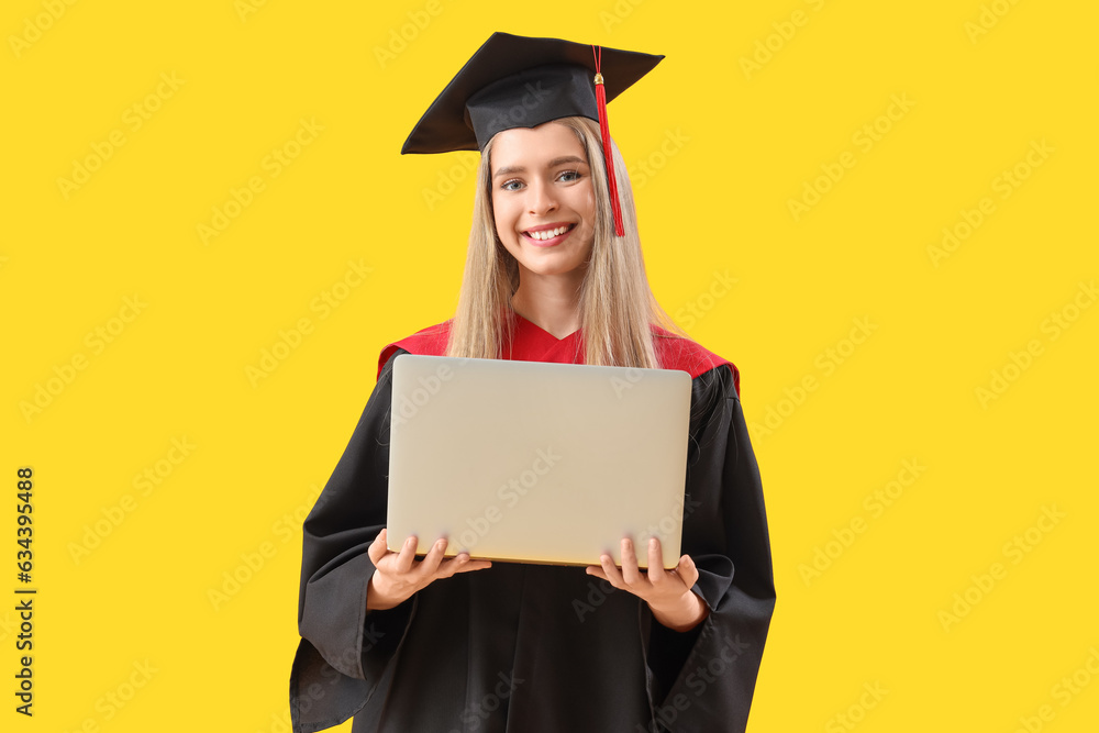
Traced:
[[496, 232], [520, 269], [581, 273], [596, 229], [596, 193], [584, 146], [546, 122], [496, 135], [490, 153]]

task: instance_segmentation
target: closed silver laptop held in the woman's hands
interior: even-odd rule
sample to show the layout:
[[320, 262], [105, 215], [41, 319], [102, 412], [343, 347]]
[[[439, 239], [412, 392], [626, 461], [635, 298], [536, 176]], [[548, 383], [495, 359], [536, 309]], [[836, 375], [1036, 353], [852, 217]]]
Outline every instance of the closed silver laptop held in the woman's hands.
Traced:
[[401, 354], [393, 363], [391, 549], [522, 563], [679, 562], [686, 371]]

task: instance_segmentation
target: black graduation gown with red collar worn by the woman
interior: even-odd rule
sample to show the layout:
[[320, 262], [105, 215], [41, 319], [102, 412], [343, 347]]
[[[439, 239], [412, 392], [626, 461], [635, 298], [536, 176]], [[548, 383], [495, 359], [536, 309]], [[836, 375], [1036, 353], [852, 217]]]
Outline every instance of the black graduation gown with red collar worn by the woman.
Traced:
[[[515, 315], [504, 358], [580, 363]], [[388, 345], [351, 442], [306, 519], [290, 677], [298, 733], [743, 731], [775, 604], [759, 471], [731, 363], [654, 327], [665, 368], [692, 377], [682, 552], [709, 615], [678, 633], [582, 567], [493, 563], [366, 612], [385, 526], [392, 358], [441, 355], [448, 322]], [[430, 459], [425, 457], [425, 459]]]

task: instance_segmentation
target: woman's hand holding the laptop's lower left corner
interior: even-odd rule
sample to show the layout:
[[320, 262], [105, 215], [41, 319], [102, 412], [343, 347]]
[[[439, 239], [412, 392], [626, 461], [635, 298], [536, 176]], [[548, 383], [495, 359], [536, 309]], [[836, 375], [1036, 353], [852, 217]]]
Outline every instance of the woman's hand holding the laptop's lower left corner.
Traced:
[[370, 544], [367, 553], [376, 568], [366, 591], [366, 610], [384, 611], [403, 603], [418, 590], [433, 580], [449, 578], [455, 573], [469, 573], [492, 567], [488, 560], [469, 559], [468, 553], [443, 559], [446, 537], [440, 537], [422, 560], [417, 562], [418, 540], [412, 535], [404, 540], [400, 553], [389, 549], [387, 530], [382, 530]]

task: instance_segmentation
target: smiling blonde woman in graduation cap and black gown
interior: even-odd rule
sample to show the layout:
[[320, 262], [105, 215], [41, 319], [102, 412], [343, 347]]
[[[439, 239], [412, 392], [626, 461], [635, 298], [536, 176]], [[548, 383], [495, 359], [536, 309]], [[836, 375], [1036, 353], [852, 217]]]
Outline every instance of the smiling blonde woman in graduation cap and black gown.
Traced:
[[[304, 522], [295, 731], [352, 717], [356, 733], [744, 730], [775, 590], [737, 371], [654, 300], [606, 124], [604, 99], [662, 58], [497, 33], [406, 142], [481, 152], [468, 258], [454, 318], [382, 349]], [[403, 353], [688, 371], [678, 566], [646, 537], [622, 540], [620, 566], [588, 568], [444, 558], [445, 537], [418, 560], [415, 537], [389, 540]]]

